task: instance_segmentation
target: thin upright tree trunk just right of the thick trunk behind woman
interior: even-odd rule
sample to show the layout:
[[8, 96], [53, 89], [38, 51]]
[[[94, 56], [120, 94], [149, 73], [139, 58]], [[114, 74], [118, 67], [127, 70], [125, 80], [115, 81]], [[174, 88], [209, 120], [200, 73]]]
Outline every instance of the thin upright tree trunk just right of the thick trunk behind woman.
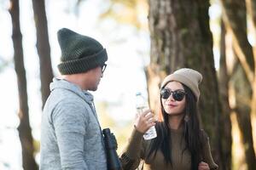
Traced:
[[230, 104], [229, 104], [229, 82], [230, 77], [227, 69], [226, 62], [226, 47], [225, 47], [225, 28], [224, 23], [221, 21], [221, 37], [220, 37], [220, 61], [219, 61], [219, 71], [218, 71], [218, 87], [220, 94], [220, 101], [222, 103], [222, 113], [220, 117], [221, 122], [225, 122], [224, 137], [222, 140], [223, 145], [223, 162], [224, 169], [231, 169], [232, 160], [232, 136], [231, 136], [231, 120], [230, 120]]

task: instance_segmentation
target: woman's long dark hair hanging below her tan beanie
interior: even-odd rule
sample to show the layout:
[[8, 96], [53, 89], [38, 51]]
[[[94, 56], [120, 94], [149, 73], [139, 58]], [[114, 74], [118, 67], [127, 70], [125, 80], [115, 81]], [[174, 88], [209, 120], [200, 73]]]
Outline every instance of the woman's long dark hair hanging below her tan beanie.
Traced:
[[[184, 117], [187, 117], [183, 119], [184, 124], [184, 132], [183, 132], [183, 138], [185, 139], [186, 146], [183, 149], [189, 150], [191, 154], [191, 169], [197, 170], [198, 164], [201, 161], [202, 156], [202, 139], [201, 139], [201, 130], [199, 126], [199, 119], [197, 114], [197, 104], [196, 104], [196, 98], [195, 94], [192, 93], [192, 91], [185, 86], [184, 84], [183, 88], [186, 93], [186, 103], [185, 103], [185, 113]], [[161, 101], [161, 96], [160, 96]], [[148, 152], [148, 158], [149, 156], [155, 156], [157, 150], [160, 150], [165, 157], [166, 163], [170, 163], [172, 165], [172, 144], [171, 143], [171, 130], [169, 127], [169, 121], [168, 121], [168, 114], [166, 114], [166, 111], [164, 110], [162, 102], [160, 102], [161, 105], [161, 113], [163, 116], [163, 122], [157, 122], [155, 125], [156, 132], [157, 132], [157, 138], [152, 139], [149, 147]], [[183, 152], [182, 152], [183, 153]]]

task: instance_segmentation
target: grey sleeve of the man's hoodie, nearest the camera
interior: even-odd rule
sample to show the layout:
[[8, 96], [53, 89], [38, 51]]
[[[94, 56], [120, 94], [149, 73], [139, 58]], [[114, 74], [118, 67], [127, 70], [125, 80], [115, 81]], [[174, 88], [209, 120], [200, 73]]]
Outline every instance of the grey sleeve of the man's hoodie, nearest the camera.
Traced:
[[79, 102], [61, 101], [52, 113], [61, 169], [88, 169], [84, 161], [84, 135], [88, 124], [84, 111], [86, 107]]

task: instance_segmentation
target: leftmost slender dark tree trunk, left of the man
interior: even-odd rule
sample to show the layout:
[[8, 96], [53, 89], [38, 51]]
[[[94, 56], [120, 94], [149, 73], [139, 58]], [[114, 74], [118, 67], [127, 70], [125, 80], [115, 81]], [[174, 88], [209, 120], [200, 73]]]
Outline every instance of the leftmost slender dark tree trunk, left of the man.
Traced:
[[29, 124], [28, 105], [27, 105], [27, 91], [26, 91], [26, 71], [24, 68], [22, 36], [20, 33], [20, 8], [19, 0], [10, 0], [9, 13], [13, 25], [13, 45], [14, 45], [14, 59], [15, 72], [17, 74], [17, 82], [19, 88], [20, 100], [20, 125], [18, 127], [20, 143], [22, 149], [22, 164], [25, 170], [36, 170], [38, 166], [33, 157], [33, 139], [31, 127]]

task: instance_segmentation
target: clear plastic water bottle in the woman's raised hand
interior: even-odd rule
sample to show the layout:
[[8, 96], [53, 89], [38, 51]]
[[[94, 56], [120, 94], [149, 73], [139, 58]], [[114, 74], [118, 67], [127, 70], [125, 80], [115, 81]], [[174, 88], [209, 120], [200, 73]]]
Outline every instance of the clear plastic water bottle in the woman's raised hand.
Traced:
[[[142, 114], [143, 111], [148, 109], [148, 101], [143, 97], [141, 93], [136, 94], [136, 109], [138, 114]], [[154, 139], [157, 137], [155, 127], [150, 127], [148, 131], [143, 135], [145, 140]]]

